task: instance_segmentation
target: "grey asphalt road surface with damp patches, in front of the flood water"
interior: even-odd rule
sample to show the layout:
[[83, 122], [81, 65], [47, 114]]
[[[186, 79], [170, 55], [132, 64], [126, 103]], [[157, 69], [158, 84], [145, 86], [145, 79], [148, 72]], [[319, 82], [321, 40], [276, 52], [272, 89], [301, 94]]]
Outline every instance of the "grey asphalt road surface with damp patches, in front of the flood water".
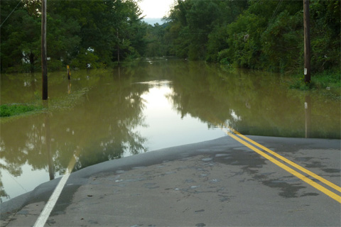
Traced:
[[[248, 137], [341, 185], [340, 140]], [[1, 226], [33, 226], [59, 180], [1, 204]], [[224, 136], [72, 173], [45, 226], [341, 226], [340, 212], [338, 201]]]

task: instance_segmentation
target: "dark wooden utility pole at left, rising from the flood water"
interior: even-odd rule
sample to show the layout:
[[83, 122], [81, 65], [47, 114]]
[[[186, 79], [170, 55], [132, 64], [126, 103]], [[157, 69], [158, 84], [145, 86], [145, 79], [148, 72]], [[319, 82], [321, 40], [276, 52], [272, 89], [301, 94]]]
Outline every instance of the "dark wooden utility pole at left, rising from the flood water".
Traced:
[[48, 99], [48, 66], [46, 48], [46, 4], [47, 0], [41, 0], [41, 72], [43, 80], [43, 100]]

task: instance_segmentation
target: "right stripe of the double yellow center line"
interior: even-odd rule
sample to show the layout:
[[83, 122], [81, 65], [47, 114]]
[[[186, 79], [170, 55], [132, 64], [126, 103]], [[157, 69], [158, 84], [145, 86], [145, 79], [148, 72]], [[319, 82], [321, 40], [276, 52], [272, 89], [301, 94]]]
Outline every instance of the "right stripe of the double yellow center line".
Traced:
[[320, 182], [323, 182], [327, 184], [329, 187], [332, 187], [333, 189], [337, 190], [338, 192], [341, 192], [341, 187], [337, 186], [336, 184], [333, 184], [332, 182], [328, 181], [327, 179], [324, 179], [323, 177], [320, 177], [319, 175], [316, 175], [315, 173], [301, 167], [301, 165], [297, 165], [295, 162], [291, 162], [291, 160], [286, 159], [285, 157], [278, 155], [274, 151], [270, 150], [269, 148], [264, 147], [263, 145], [260, 145], [259, 143], [256, 143], [254, 140], [251, 140], [250, 138], [247, 138], [245, 135], [242, 135], [241, 133], [235, 131], [233, 128], [228, 127], [232, 132], [239, 135], [240, 137], [244, 138], [245, 140], [249, 141], [250, 143], [253, 143], [257, 147], [266, 150], [268, 153], [271, 153], [271, 155], [274, 155], [278, 157], [283, 162], [288, 163], [289, 165], [296, 167], [296, 169], [301, 170], [302, 172], [305, 172], [307, 175], [310, 175], [311, 177], [314, 177], [315, 179], [318, 179]]

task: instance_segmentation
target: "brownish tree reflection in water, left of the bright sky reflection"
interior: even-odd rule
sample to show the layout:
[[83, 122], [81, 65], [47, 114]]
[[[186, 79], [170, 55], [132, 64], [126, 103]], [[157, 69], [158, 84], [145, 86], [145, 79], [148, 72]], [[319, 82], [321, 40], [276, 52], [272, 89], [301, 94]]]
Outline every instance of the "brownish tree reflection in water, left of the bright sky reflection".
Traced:
[[[146, 138], [134, 128], [144, 124], [144, 104], [140, 96], [148, 86], [131, 85], [132, 78], [126, 74], [117, 80], [112, 72], [101, 73], [97, 75], [102, 77], [101, 80], [92, 79], [94, 84], [89, 84], [86, 77], [89, 75], [80, 76], [80, 81], [86, 80], [92, 89], [79, 97], [83, 101], [76, 101], [78, 105], [74, 108], [53, 110], [48, 114], [48, 121], [46, 115], [40, 114], [1, 123], [0, 158], [5, 162], [1, 164], [1, 170], [16, 177], [22, 174], [22, 165], [27, 163], [33, 170], [48, 170], [52, 166], [48, 160], [52, 159], [55, 172], [63, 174], [74, 155], [77, 155], [75, 170], [80, 170], [121, 157], [124, 152], [136, 154], [146, 150]], [[76, 89], [77, 81], [72, 84]], [[60, 87], [65, 89], [65, 86]], [[67, 98], [67, 91], [65, 95]], [[74, 98], [70, 96], [70, 99]], [[50, 126], [50, 158], [46, 153], [47, 122]], [[6, 197], [1, 179], [0, 196]]]

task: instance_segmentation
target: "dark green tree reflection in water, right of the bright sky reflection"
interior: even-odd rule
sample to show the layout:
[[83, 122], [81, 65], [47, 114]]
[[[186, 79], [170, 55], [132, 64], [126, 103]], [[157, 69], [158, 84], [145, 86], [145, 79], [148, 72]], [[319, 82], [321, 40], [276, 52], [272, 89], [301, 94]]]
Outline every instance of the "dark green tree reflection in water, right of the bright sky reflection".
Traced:
[[[305, 94], [288, 90], [278, 74], [229, 72], [198, 62], [172, 73], [174, 94], [168, 99], [181, 116], [190, 114], [209, 127], [228, 123], [249, 135], [305, 137]], [[318, 95], [312, 100], [310, 136], [340, 138], [340, 101]]]

